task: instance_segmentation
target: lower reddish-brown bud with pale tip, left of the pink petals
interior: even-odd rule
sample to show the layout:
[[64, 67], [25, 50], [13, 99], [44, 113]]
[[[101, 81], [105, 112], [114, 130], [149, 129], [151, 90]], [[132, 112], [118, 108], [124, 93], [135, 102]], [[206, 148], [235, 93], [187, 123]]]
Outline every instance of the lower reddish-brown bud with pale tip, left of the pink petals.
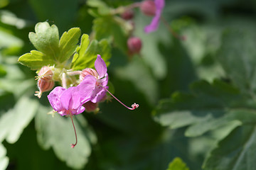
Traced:
[[52, 79], [38, 79], [38, 89], [35, 96], [41, 98], [43, 92], [50, 91], [54, 87], [54, 81]]

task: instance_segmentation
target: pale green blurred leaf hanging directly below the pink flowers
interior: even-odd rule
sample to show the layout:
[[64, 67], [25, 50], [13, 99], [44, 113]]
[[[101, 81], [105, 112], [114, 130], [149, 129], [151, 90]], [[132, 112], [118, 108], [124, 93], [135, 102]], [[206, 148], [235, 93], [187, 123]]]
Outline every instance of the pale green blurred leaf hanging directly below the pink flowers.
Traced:
[[91, 154], [90, 144], [96, 142], [95, 134], [82, 115], [76, 115], [73, 120], [78, 134], [78, 145], [71, 148], [75, 135], [70, 118], [61, 117], [58, 113], [52, 117], [46, 114], [48, 111], [48, 108], [41, 107], [36, 115], [39, 144], [45, 149], [52, 147], [56, 156], [73, 169], [82, 169]]

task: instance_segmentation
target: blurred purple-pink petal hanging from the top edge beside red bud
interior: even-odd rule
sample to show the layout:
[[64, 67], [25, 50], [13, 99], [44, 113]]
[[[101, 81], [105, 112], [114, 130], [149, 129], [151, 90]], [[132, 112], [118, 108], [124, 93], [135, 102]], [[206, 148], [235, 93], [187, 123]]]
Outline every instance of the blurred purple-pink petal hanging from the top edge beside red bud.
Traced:
[[165, 6], [164, 0], [154, 0], [154, 4], [156, 5], [156, 13], [154, 15], [154, 18], [152, 19], [149, 26], [146, 26], [144, 28], [145, 33], [151, 33], [159, 27], [159, 21], [161, 18], [161, 12]]

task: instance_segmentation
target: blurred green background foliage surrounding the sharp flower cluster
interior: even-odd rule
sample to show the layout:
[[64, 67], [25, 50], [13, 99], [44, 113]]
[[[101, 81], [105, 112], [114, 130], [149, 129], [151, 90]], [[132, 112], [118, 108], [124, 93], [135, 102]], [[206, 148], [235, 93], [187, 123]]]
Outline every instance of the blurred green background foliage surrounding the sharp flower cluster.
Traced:
[[[166, 1], [163, 16], [184, 41], [163, 23], [145, 34], [151, 18], [137, 9], [134, 35], [143, 47], [131, 57], [123, 25], [92, 1], [0, 0], [0, 169], [159, 170], [175, 157], [189, 169], [255, 169], [256, 2]], [[33, 96], [36, 74], [17, 62], [34, 49], [28, 33], [43, 21], [60, 35], [73, 27], [92, 39], [112, 35], [114, 94], [140, 105], [131, 112], [112, 100], [100, 113], [77, 116], [85, 147], [76, 155], [66, 141], [73, 141], [70, 121], [46, 115], [48, 93]]]

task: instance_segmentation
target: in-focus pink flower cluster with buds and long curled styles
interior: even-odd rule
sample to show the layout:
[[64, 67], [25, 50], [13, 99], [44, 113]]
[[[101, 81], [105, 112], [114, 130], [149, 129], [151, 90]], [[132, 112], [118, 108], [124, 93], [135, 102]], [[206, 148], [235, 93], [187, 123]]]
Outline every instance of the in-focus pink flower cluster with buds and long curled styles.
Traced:
[[[73, 115], [80, 114], [85, 110], [95, 111], [97, 109], [97, 103], [105, 101], [106, 92], [110, 93], [110, 91], [108, 91], [107, 86], [107, 65], [105, 64], [104, 60], [102, 60], [100, 55], [97, 55], [97, 59], [95, 61], [95, 69], [86, 68], [82, 71], [62, 73], [63, 86], [55, 87], [53, 91], [50, 91], [50, 94], [48, 95], [50, 105], [53, 107], [53, 110], [55, 112], [58, 112], [62, 116], [65, 115], [70, 117], [73, 123]], [[48, 85], [48, 89], [44, 86], [38, 85], [38, 88], [41, 91], [40, 96], [43, 93], [43, 91], [46, 91], [46, 89], [49, 91], [53, 88], [53, 74], [54, 73], [52, 69], [50, 69], [50, 67], [42, 67], [41, 71], [38, 73], [38, 84], [40, 84], [39, 81], [46, 81], [50, 84]], [[80, 74], [80, 83], [78, 84], [78, 86], [70, 86], [68, 89], [65, 88], [67, 86], [65, 82], [66, 74], [73, 76], [76, 74]], [[52, 81], [53, 85], [51, 83]], [[114, 97], [113, 94], [110, 93], [110, 95]], [[116, 97], [114, 98], [117, 99]], [[117, 99], [117, 101], [119, 100]], [[119, 102], [122, 103], [121, 101]], [[124, 103], [122, 103], [122, 105], [125, 106]], [[127, 106], [125, 107], [129, 108]], [[134, 103], [132, 105], [132, 108], [129, 109], [134, 110], [138, 107], [139, 105]], [[74, 123], [73, 127], [75, 130]], [[76, 132], [75, 138], [76, 142], [71, 147], [75, 147], [75, 145], [78, 142]]]

